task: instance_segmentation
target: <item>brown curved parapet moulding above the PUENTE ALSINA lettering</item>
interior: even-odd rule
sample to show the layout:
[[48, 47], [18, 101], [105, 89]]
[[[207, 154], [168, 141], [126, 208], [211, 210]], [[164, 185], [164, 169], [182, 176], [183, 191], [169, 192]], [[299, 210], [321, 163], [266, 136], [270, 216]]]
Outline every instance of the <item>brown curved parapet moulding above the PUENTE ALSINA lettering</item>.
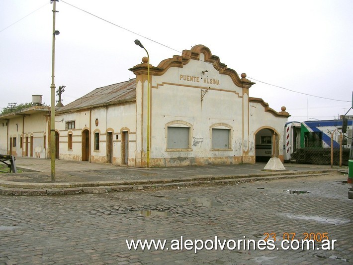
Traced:
[[[150, 74], [154, 76], [161, 76], [165, 72], [167, 72], [167, 70], [171, 67], [182, 68], [191, 59], [200, 60], [201, 53], [203, 54], [203, 58], [206, 63], [211, 63], [220, 74], [228, 75], [236, 86], [241, 88], [250, 88], [252, 85], [255, 84], [254, 82], [251, 82], [250, 80], [246, 79], [245, 74], [242, 74], [242, 78], [240, 78], [235, 70], [230, 69], [227, 67], [226, 64], [221, 63], [218, 56], [212, 55], [209, 48], [200, 44], [193, 46], [191, 50], [183, 50], [181, 55], [174, 55], [173, 58], [161, 61], [157, 67], [150, 65]], [[136, 76], [141, 74], [147, 74], [148, 64], [141, 63], [135, 65], [129, 70], [132, 71]]]

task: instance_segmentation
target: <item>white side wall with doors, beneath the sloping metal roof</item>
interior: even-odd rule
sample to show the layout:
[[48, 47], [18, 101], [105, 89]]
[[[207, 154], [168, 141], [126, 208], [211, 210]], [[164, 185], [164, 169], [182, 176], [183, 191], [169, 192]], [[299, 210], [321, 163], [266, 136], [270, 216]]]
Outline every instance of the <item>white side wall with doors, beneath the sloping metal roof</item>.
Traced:
[[[91, 162], [107, 162], [107, 133], [112, 133], [113, 164], [121, 164], [121, 132], [128, 132], [128, 164], [134, 166], [136, 150], [136, 105], [108, 106], [90, 111], [56, 116], [56, 131], [60, 133], [60, 159], [82, 160], [82, 133], [89, 131]], [[96, 125], [95, 121], [98, 121]], [[67, 121], [75, 121], [75, 129], [66, 130]], [[72, 149], [68, 148], [68, 134], [72, 133]], [[99, 149], [95, 149], [94, 133], [99, 133]]]

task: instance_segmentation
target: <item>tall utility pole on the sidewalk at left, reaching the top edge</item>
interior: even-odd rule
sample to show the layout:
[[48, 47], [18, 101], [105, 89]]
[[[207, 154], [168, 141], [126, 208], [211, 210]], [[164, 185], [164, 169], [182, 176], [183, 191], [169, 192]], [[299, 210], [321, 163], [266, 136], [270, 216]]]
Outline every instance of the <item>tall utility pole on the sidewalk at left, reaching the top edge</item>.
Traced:
[[55, 82], [54, 82], [54, 66], [55, 66], [55, 36], [59, 35], [60, 32], [55, 30], [55, 14], [56, 2], [59, 0], [51, 0], [53, 3], [53, 52], [52, 52], [52, 84], [51, 88], [51, 103], [50, 103], [50, 156], [51, 156], [51, 177], [52, 181], [55, 181]]

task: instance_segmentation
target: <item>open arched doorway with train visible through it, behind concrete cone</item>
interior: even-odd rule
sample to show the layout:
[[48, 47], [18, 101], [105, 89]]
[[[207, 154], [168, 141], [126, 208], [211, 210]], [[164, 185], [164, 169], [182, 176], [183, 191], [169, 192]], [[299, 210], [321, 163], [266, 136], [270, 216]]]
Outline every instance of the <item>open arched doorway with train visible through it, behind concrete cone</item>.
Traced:
[[268, 162], [273, 157], [273, 135], [271, 129], [261, 129], [255, 135], [255, 161]]

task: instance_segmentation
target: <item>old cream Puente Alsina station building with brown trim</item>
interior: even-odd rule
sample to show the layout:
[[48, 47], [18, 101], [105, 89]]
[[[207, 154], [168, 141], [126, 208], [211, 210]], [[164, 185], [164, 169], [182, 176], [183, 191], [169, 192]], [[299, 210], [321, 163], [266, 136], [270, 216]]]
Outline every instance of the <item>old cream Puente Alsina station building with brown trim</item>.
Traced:
[[[249, 97], [246, 74], [203, 45], [158, 66], [142, 61], [129, 69], [136, 78], [56, 109], [57, 158], [135, 167], [283, 161], [289, 114]], [[34, 106], [0, 116], [0, 153], [50, 158], [49, 113]]]

